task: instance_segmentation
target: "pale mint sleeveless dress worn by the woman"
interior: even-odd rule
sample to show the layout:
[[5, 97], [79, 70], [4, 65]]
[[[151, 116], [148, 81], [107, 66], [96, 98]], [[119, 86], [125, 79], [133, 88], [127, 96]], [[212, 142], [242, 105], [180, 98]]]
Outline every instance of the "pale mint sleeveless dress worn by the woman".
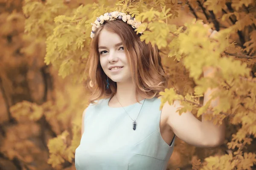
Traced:
[[[167, 144], [160, 134], [160, 99], [154, 97], [124, 107], [108, 106], [110, 98], [90, 104], [84, 133], [76, 148], [76, 170], [166, 170], [175, 136]], [[140, 111], [141, 109], [141, 111]]]

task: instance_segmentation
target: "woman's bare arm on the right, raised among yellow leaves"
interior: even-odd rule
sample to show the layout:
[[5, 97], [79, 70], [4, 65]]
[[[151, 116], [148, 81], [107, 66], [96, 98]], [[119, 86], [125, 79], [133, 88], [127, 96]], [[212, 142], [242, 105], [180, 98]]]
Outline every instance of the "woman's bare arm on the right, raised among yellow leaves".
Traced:
[[[205, 77], [212, 76], [213, 72], [204, 75]], [[208, 89], [204, 94], [204, 105], [209, 100], [210, 94], [218, 89]], [[211, 107], [218, 104], [219, 99], [214, 99], [211, 102]], [[216, 147], [224, 142], [225, 125], [214, 125], [213, 119], [211, 121], [205, 119], [204, 113], [202, 115], [202, 122], [195, 118], [191, 112], [176, 113], [177, 109], [182, 107], [179, 101], [175, 101], [173, 105], [168, 102], [163, 106], [163, 111], [168, 113], [167, 124], [172, 128], [175, 135], [188, 144], [197, 147]]]

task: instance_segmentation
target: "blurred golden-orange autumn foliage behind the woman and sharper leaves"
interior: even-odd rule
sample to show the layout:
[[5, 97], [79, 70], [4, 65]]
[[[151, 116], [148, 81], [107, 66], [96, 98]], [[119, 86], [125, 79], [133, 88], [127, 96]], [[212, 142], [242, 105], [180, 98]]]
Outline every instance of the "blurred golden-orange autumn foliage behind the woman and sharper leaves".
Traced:
[[[120, 2], [132, 5], [143, 1]], [[103, 11], [118, 6], [115, 3], [115, 0], [0, 0], [1, 170], [76, 169], [74, 153], [80, 143], [81, 117], [89, 95], [83, 82], [87, 80], [84, 67], [90, 45], [90, 23]], [[144, 3], [156, 11], [161, 11], [163, 6], [171, 8], [168, 24], [176, 26], [196, 18], [220, 31], [244, 20], [244, 25], [239, 23], [241, 29], [230, 36], [237, 44], [229, 48], [229, 53], [246, 63], [251, 69], [250, 76], [255, 77], [256, 4], [253, 0], [239, 3], [148, 0]], [[231, 15], [233, 12], [238, 13]], [[221, 20], [224, 14], [230, 14], [226, 15], [227, 20]], [[183, 63], [164, 53], [162, 56], [169, 75], [168, 88], [175, 85], [183, 95], [193, 92], [195, 81]], [[252, 93], [255, 95], [255, 91]], [[255, 108], [253, 113], [256, 114]], [[251, 119], [255, 123], [256, 118]], [[241, 123], [228, 124], [227, 141], [241, 127]], [[255, 136], [249, 137], [250, 144], [245, 143], [242, 150], [255, 153]], [[217, 148], [203, 149], [177, 139], [168, 168], [189, 170], [193, 164], [196, 169], [200, 164], [198, 159], [233, 152], [234, 148], [229, 148], [227, 142]], [[256, 169], [253, 156], [247, 161], [249, 167]]]

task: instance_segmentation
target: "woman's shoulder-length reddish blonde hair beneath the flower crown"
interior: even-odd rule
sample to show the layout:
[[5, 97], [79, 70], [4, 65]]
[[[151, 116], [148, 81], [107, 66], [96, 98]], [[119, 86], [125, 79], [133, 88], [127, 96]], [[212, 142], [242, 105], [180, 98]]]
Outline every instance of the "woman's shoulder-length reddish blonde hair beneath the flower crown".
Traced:
[[86, 88], [91, 92], [89, 102], [94, 104], [95, 100], [112, 98], [116, 94], [116, 82], [110, 78], [108, 79], [109, 88], [106, 89], [107, 75], [99, 61], [99, 34], [103, 28], [118, 34], [122, 40], [131, 75], [134, 75], [132, 79], [136, 85], [136, 95], [140, 94], [146, 99], [159, 97], [159, 92], [167, 87], [167, 79], [157, 46], [141, 42], [134, 28], [122, 20], [113, 20], [105, 21], [97, 28], [91, 42], [90, 55], [85, 69], [85, 72], [89, 74], [86, 81]]

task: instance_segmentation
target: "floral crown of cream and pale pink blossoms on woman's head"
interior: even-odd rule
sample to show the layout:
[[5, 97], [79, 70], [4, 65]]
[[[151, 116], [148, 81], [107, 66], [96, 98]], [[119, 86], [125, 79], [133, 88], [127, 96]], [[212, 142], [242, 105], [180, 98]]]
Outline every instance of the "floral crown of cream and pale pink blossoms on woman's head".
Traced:
[[[124, 12], [119, 11], [113, 11], [110, 13], [105, 13], [104, 15], [101, 15], [100, 17], [97, 17], [97, 19], [94, 21], [94, 23], [91, 23], [92, 26], [92, 32], [90, 34], [90, 37], [93, 39], [95, 31], [101, 24], [104, 23], [104, 21], [113, 21], [113, 20], [122, 20], [125, 23], [128, 23], [131, 25], [132, 28], [138, 28], [142, 23], [138, 22], [134, 17], [131, 17], [131, 15], [125, 14]], [[139, 32], [142, 34], [143, 32]]]

